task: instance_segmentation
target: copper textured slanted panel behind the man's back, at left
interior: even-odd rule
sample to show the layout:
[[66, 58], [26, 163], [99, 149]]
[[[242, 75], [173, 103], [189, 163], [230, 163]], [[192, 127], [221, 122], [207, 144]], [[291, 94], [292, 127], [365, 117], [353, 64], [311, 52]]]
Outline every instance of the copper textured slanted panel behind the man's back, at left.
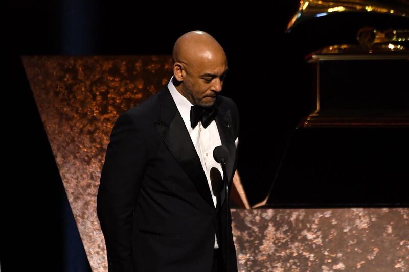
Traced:
[[170, 56], [25, 56], [22, 61], [93, 271], [106, 271], [96, 214], [105, 151], [118, 115], [160, 90]]

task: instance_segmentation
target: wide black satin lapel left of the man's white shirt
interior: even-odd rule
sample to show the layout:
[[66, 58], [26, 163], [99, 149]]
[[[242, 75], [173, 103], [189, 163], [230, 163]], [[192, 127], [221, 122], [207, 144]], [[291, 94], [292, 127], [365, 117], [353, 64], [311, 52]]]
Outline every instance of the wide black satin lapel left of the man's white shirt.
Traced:
[[199, 156], [166, 86], [162, 89], [158, 98], [161, 112], [160, 120], [155, 122], [156, 130], [161, 135], [170, 153], [193, 181], [199, 194], [209, 205], [214, 207], [212, 194]]

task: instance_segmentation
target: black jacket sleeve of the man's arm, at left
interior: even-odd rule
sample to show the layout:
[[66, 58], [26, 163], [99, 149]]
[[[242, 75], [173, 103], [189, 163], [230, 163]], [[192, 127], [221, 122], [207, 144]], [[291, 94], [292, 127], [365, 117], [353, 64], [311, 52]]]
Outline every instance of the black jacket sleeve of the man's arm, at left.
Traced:
[[144, 136], [134, 118], [118, 117], [110, 134], [97, 195], [108, 271], [129, 271], [133, 211], [146, 169]]

